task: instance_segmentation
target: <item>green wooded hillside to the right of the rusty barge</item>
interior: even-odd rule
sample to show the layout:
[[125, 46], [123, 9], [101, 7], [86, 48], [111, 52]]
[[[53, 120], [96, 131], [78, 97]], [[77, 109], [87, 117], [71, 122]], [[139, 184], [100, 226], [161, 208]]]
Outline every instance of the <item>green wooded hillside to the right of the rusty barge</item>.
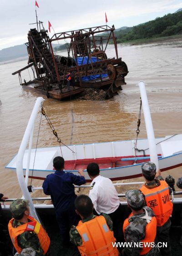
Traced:
[[182, 34], [182, 11], [116, 32], [117, 42]]

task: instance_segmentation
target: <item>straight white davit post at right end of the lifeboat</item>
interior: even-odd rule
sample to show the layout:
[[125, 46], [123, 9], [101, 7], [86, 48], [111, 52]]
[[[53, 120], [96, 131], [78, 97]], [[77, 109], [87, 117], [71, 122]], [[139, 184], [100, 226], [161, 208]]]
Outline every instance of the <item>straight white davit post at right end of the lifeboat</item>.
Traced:
[[159, 164], [158, 164], [158, 157], [157, 157], [156, 141], [155, 141], [155, 136], [153, 131], [151, 113], [148, 105], [147, 92], [145, 89], [145, 82], [144, 81], [138, 82], [138, 86], [140, 88], [140, 95], [142, 99], [142, 108], [143, 108], [143, 114], [145, 118], [146, 130], [147, 130], [147, 139], [148, 139], [148, 145], [149, 145], [150, 158], [151, 158], [151, 162], [153, 162], [156, 165], [156, 169], [158, 170]]

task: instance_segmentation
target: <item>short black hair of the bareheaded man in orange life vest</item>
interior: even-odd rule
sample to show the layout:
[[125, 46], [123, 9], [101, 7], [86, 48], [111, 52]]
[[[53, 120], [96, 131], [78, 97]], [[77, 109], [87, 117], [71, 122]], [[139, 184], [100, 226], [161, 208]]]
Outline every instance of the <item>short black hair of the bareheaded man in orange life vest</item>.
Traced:
[[89, 217], [91, 213], [93, 213], [93, 203], [91, 198], [86, 195], [76, 197], [75, 208], [84, 218]]

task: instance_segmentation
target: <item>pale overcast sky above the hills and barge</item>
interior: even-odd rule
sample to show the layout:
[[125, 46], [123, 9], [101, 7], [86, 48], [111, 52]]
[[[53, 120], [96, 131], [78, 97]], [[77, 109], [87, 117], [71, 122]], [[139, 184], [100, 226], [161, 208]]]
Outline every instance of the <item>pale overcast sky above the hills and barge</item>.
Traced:
[[[55, 32], [107, 25], [132, 27], [173, 13], [182, 0], [37, 0], [38, 20]], [[35, 0], [0, 0], [0, 49], [27, 42], [34, 23]], [[33, 28], [32, 27], [32, 28]], [[51, 35], [54, 32], [51, 29]]]

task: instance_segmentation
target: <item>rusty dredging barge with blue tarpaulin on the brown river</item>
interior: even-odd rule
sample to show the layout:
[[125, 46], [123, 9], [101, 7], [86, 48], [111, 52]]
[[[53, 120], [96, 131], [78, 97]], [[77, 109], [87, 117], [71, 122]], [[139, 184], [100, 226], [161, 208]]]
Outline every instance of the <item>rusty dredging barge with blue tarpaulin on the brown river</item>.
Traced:
[[[12, 75], [19, 75], [20, 85], [24, 88], [58, 100], [81, 93], [85, 88], [104, 90], [105, 99], [109, 99], [122, 90], [128, 73], [127, 65], [118, 58], [114, 30], [114, 25], [106, 25], [55, 33], [50, 38], [44, 28], [40, 31], [30, 29], [26, 43], [28, 65]], [[65, 39], [70, 42], [67, 43], [67, 56], [55, 54], [52, 42]], [[107, 58], [106, 55], [111, 41], [115, 47], [115, 58]], [[29, 68], [33, 71], [34, 80], [22, 82], [21, 72]]]

